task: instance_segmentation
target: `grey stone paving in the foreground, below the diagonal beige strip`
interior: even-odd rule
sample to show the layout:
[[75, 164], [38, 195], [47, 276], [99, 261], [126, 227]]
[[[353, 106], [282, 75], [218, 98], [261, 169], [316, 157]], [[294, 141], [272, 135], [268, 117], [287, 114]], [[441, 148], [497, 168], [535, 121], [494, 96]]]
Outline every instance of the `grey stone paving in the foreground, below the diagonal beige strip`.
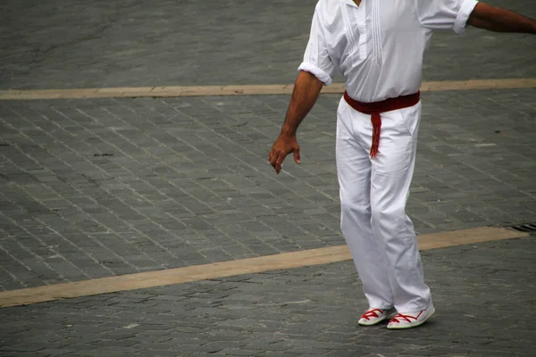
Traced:
[[6, 356], [532, 356], [536, 240], [423, 252], [437, 313], [421, 328], [356, 323], [352, 262], [0, 310]]

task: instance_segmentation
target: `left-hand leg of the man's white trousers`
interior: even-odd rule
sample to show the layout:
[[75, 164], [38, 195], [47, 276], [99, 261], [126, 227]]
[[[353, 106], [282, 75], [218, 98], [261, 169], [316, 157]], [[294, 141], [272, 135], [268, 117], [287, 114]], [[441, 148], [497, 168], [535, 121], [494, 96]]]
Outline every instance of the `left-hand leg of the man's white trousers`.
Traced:
[[370, 121], [370, 116], [355, 112], [341, 100], [337, 112], [336, 142], [340, 227], [369, 306], [387, 309], [393, 306], [393, 294], [383, 243], [374, 237], [371, 226], [372, 165], [366, 143], [354, 132], [355, 125], [363, 120]]

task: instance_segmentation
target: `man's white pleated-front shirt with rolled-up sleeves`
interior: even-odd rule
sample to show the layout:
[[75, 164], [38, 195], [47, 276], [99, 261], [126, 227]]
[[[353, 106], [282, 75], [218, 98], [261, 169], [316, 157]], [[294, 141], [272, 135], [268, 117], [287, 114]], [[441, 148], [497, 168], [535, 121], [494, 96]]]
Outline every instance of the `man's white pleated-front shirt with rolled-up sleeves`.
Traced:
[[299, 71], [325, 85], [339, 71], [348, 95], [378, 102], [421, 87], [433, 29], [461, 33], [476, 0], [320, 0]]

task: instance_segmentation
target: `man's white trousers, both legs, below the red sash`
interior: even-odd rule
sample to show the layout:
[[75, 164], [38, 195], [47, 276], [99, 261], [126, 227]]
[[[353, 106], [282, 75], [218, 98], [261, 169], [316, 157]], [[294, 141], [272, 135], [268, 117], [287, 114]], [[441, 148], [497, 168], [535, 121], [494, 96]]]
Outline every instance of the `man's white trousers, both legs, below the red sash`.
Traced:
[[421, 103], [381, 114], [379, 153], [370, 158], [371, 116], [340, 100], [337, 172], [342, 234], [369, 306], [421, 311], [431, 304], [406, 202], [415, 168]]

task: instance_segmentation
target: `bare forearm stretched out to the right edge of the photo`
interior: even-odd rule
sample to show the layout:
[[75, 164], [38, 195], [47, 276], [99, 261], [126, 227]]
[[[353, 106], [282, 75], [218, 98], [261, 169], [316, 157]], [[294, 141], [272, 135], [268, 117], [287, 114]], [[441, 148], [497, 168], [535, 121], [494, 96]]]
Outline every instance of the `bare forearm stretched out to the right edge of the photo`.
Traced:
[[536, 20], [484, 3], [476, 5], [468, 23], [477, 28], [496, 32], [536, 34]]

